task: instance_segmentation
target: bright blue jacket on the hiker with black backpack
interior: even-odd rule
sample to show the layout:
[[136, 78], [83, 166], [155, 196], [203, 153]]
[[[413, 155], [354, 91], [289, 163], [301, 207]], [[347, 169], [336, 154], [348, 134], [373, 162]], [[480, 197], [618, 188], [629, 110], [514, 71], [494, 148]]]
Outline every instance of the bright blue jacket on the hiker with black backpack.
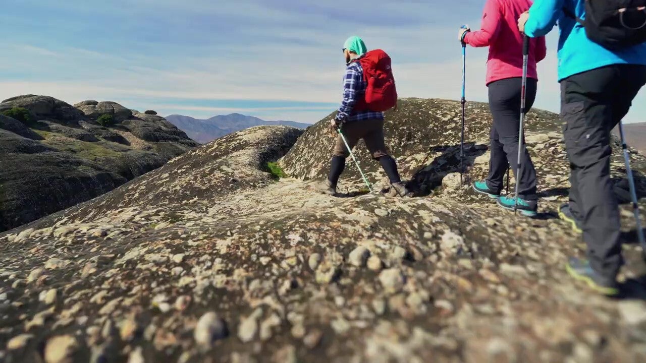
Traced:
[[585, 29], [563, 12], [563, 7], [585, 18], [585, 0], [535, 0], [529, 9], [525, 34], [545, 36], [559, 24], [559, 82], [581, 72], [614, 64], [646, 65], [646, 43], [620, 51], [610, 51], [590, 41]]

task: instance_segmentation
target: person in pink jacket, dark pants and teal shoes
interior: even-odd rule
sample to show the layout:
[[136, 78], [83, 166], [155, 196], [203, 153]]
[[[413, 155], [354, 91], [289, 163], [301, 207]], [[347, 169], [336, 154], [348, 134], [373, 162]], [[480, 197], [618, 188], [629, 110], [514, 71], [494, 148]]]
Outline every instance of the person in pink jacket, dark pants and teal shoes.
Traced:
[[[461, 29], [459, 39], [472, 47], [489, 47], [486, 85], [489, 108], [494, 123], [491, 128], [491, 158], [485, 181], [475, 182], [474, 190], [496, 198], [505, 208], [514, 208], [514, 198], [501, 197], [505, 171], [511, 165], [519, 181], [518, 209], [527, 216], [536, 215], [536, 170], [527, 150], [521, 155], [523, 170], [518, 175], [518, 129], [523, 76], [523, 34], [518, 31], [518, 17], [530, 8], [529, 0], [486, 0], [481, 30]], [[536, 63], [545, 58], [545, 37], [532, 38], [527, 68], [526, 111], [536, 98]]]

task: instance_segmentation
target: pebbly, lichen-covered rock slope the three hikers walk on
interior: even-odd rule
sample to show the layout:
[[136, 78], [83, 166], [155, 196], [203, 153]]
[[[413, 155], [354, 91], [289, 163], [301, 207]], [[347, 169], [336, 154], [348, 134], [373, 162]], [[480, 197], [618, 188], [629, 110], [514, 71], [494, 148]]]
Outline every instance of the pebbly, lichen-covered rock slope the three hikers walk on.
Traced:
[[[459, 103], [427, 99], [388, 114], [393, 153], [415, 185], [407, 198], [362, 192], [351, 165], [339, 196], [317, 194], [311, 178], [325, 174], [333, 143], [325, 123], [254, 127], [0, 235], [0, 357], [645, 361], [646, 268], [629, 207], [626, 294], [609, 300], [563, 269], [583, 247], [554, 213], [568, 169], [557, 116], [528, 122], [543, 196], [536, 219], [459, 185], [458, 117]], [[489, 117], [469, 103], [466, 180], [486, 172]], [[646, 158], [632, 158], [643, 192]], [[266, 172], [275, 160], [297, 178], [275, 180]]]

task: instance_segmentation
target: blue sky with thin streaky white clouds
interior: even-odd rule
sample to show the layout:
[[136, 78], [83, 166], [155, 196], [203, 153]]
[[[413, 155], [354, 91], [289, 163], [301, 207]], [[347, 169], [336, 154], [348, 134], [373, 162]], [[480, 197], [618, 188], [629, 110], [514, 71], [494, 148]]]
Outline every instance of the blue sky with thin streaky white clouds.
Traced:
[[[483, 0], [3, 0], [0, 99], [76, 103], [205, 118], [240, 112], [315, 122], [337, 107], [351, 35], [393, 58], [403, 97], [458, 99], [457, 28]], [[555, 29], [536, 107], [557, 111]], [[486, 48], [467, 50], [466, 96], [486, 101]], [[642, 90], [626, 121], [646, 121]], [[641, 101], [639, 101], [641, 100]]]

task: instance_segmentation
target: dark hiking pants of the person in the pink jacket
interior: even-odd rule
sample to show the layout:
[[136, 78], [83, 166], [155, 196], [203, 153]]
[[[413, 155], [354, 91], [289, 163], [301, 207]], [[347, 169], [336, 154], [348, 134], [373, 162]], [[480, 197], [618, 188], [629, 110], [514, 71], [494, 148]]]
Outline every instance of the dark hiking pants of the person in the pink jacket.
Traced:
[[[525, 111], [536, 99], [536, 79], [528, 78], [525, 92]], [[522, 171], [518, 175], [518, 130], [521, 118], [521, 78], [506, 78], [489, 83], [489, 109], [494, 117], [491, 127], [491, 158], [487, 187], [499, 194], [503, 190], [505, 172], [511, 165], [518, 185], [518, 194], [524, 200], [537, 200], [536, 170], [527, 149], [521, 154]], [[523, 135], [523, 143], [525, 136]]]

